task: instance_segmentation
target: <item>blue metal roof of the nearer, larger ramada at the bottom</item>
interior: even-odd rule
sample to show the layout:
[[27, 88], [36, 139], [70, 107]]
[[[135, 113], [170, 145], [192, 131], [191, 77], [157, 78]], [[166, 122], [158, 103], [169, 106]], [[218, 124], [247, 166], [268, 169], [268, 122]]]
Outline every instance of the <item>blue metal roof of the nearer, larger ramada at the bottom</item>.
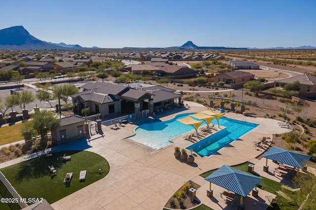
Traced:
[[246, 197], [262, 178], [223, 165], [206, 177], [205, 180]]

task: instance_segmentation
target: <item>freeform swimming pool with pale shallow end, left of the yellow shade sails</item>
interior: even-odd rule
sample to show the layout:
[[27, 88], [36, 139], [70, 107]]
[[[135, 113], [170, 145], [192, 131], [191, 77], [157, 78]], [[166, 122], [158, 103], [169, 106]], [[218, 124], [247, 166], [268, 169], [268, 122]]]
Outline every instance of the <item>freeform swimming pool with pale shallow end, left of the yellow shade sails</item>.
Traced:
[[[129, 139], [147, 145], [149, 147], [160, 149], [171, 144], [171, 139], [193, 130], [190, 125], [184, 125], [176, 119], [182, 119], [195, 113], [186, 113], [177, 115], [175, 118], [167, 121], [154, 121], [145, 123], [135, 129], [136, 134]], [[203, 122], [203, 124], [205, 124]], [[202, 124], [202, 125], [203, 125]]]

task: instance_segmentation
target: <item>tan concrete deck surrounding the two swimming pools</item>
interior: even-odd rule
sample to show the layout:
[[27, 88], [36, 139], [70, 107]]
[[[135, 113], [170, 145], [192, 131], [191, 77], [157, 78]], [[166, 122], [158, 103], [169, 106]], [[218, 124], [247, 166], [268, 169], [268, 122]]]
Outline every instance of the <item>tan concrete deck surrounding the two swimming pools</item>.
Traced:
[[[169, 120], [175, 115], [206, 110], [200, 104], [186, 102], [190, 108], [175, 109], [173, 112], [156, 115], [160, 120]], [[186, 104], [185, 103], [185, 104]], [[214, 111], [219, 113], [219, 110]], [[168, 115], [168, 116], [164, 116]], [[281, 128], [277, 120], [266, 118], [244, 117], [236, 113], [226, 113], [225, 117], [246, 120], [260, 124], [246, 135], [232, 142], [230, 147], [219, 150], [209, 157], [201, 157], [194, 153], [195, 162], [187, 163], [176, 159], [173, 155], [174, 148], [186, 148], [192, 145], [185, 141], [183, 136], [173, 139], [174, 144], [160, 150], [152, 150], [129, 139], [124, 139], [134, 133], [136, 124], [126, 124], [118, 130], [112, 130], [103, 126], [104, 135], [96, 135], [87, 141], [87, 151], [95, 152], [107, 159], [110, 164], [109, 174], [102, 180], [98, 180], [89, 186], [51, 204], [55, 210], [162, 210], [169, 198], [185, 182], [192, 180], [201, 185], [197, 189], [197, 198], [206, 206], [214, 210], [236, 209], [225, 204], [219, 197], [221, 187], [212, 184], [214, 197], [208, 198], [206, 190], [209, 182], [199, 175], [222, 165], [237, 165], [246, 161], [257, 163], [256, 159], [269, 145], [262, 148], [254, 148], [253, 141], [263, 136], [270, 137], [274, 133], [285, 133], [290, 130]], [[77, 150], [76, 144], [64, 145], [56, 150]], [[19, 159], [19, 158], [18, 158]], [[24, 158], [27, 159], [27, 158]], [[0, 168], [24, 159], [0, 164]], [[259, 167], [258, 167], [259, 168]], [[87, 175], [88, 176], [88, 175]], [[265, 195], [272, 195], [264, 190], [259, 191], [259, 197], [248, 195], [244, 199], [246, 209], [265, 210], [269, 202]]]

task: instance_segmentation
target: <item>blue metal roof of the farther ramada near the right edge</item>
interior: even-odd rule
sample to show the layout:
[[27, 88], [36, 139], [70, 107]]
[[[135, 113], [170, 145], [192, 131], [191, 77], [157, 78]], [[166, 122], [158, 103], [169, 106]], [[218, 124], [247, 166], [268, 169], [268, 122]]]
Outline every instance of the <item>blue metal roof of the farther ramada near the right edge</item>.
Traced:
[[280, 163], [285, 163], [297, 168], [303, 168], [307, 161], [311, 158], [310, 155], [301, 154], [294, 151], [283, 150], [281, 148], [273, 147], [262, 157], [275, 160]]

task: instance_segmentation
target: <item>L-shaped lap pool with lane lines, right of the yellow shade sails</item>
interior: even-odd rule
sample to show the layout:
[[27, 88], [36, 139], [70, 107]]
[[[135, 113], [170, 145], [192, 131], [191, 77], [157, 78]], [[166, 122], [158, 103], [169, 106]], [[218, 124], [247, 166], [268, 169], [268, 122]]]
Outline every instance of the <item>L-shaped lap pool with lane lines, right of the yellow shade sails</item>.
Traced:
[[[212, 121], [212, 123], [216, 124], [215, 121]], [[221, 117], [219, 119], [219, 123], [226, 128], [208, 136], [186, 149], [193, 149], [200, 155], [209, 156], [258, 126], [258, 124], [233, 120], [226, 117]]]

